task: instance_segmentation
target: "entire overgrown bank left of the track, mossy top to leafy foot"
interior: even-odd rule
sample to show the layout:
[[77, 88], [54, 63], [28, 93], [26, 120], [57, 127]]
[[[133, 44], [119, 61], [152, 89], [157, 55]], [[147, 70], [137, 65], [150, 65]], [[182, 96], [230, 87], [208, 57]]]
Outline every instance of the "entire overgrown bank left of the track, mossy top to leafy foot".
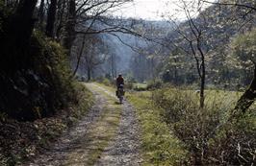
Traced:
[[25, 68], [0, 75], [0, 165], [16, 165], [38, 154], [93, 101], [85, 85], [72, 79], [59, 43], [35, 31], [26, 54]]

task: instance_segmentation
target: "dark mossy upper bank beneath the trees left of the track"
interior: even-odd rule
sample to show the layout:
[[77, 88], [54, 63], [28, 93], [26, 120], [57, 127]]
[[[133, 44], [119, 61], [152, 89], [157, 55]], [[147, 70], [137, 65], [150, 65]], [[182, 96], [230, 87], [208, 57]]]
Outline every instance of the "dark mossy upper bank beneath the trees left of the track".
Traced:
[[22, 68], [1, 71], [0, 109], [18, 120], [35, 120], [51, 116], [58, 109], [76, 102], [71, 71], [64, 48], [35, 31], [30, 49], [24, 55]]

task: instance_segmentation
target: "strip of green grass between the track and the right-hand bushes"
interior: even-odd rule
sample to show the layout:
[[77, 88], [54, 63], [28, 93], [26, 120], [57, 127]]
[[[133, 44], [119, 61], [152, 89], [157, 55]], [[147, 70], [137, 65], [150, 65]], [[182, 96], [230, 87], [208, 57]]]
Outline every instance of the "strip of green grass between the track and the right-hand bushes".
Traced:
[[143, 165], [181, 165], [187, 152], [163, 121], [160, 110], [152, 105], [150, 92], [129, 93], [141, 125]]

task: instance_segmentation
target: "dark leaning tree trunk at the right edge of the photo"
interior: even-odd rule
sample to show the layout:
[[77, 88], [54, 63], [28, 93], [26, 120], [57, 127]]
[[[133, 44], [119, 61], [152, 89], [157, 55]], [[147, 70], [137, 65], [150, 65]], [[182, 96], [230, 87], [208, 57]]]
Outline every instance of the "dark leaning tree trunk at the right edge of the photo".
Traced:
[[256, 98], [256, 66], [254, 66], [254, 76], [249, 85], [245, 90], [241, 98], [239, 99], [235, 109], [238, 111], [245, 112], [255, 101]]

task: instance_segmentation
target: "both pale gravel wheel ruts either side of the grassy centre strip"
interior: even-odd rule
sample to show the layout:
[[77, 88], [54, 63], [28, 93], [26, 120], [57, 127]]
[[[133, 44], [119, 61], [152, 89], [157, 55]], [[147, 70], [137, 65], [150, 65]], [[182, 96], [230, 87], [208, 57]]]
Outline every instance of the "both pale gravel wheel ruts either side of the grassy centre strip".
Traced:
[[[87, 86], [95, 96], [96, 104], [91, 107], [89, 113], [75, 127], [71, 128], [57, 141], [48, 151], [39, 155], [30, 163], [24, 164], [30, 166], [59, 166], [59, 165], [85, 165], [83, 162], [70, 162], [68, 154], [72, 152], [83, 152], [83, 156], [79, 156], [81, 161], [90, 155], [87, 150], [90, 145], [90, 140], [87, 139], [90, 124], [97, 121], [106, 107], [106, 96], [98, 92], [104, 91], [107, 95], [115, 97], [115, 94], [93, 83], [87, 83]], [[93, 90], [90, 87], [96, 87], [98, 90]], [[124, 100], [121, 120], [118, 127], [116, 137], [110, 141], [109, 146], [103, 150], [103, 153], [96, 161], [95, 165], [131, 165], [137, 166], [142, 162], [139, 153], [140, 130], [138, 121], [135, 115], [135, 109]], [[84, 158], [83, 158], [84, 157]], [[76, 158], [76, 160], [77, 160]]]

